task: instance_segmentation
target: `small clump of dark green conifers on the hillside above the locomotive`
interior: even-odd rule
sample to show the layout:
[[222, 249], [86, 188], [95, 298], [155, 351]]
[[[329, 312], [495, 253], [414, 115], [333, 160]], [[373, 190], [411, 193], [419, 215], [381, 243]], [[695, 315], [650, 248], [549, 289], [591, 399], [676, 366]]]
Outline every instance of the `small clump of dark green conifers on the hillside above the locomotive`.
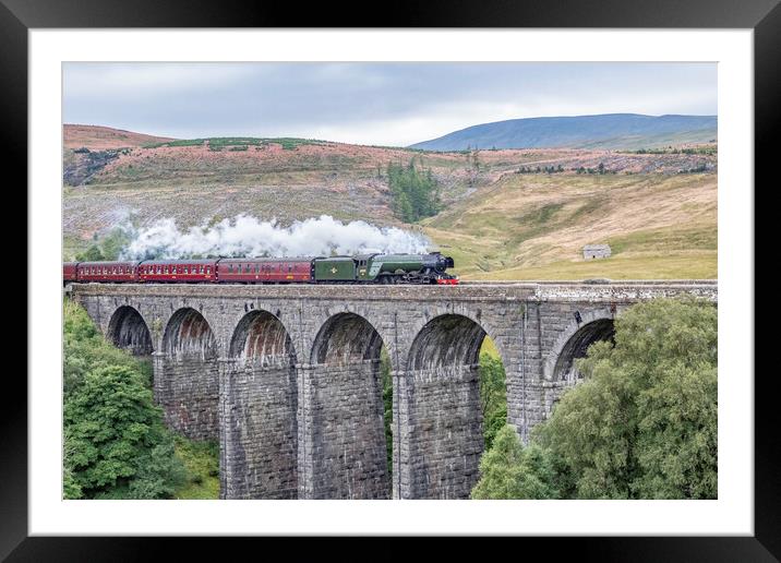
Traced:
[[440, 184], [430, 168], [423, 170], [416, 166], [416, 157], [407, 166], [388, 163], [387, 178], [396, 217], [413, 223], [438, 213]]

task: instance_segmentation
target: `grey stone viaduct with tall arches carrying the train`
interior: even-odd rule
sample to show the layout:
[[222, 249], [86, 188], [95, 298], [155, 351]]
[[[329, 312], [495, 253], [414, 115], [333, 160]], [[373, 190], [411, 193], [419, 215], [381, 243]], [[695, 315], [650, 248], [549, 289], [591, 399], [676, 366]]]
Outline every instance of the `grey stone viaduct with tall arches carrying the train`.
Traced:
[[[218, 439], [224, 499], [464, 499], [483, 450], [478, 360], [504, 363], [528, 440], [574, 359], [649, 299], [714, 282], [461, 286], [74, 284], [107, 338], [153, 357], [167, 424]], [[380, 355], [393, 379], [387, 464]]]

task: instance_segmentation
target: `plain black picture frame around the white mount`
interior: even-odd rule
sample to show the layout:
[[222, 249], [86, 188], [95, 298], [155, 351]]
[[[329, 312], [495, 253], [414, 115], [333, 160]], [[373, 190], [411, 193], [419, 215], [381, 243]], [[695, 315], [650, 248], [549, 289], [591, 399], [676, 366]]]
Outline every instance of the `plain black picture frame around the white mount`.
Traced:
[[[305, 4], [305, 10], [301, 9], [302, 5], [298, 2], [236, 0], [0, 0], [0, 75], [3, 83], [0, 88], [0, 131], [4, 141], [0, 158], [5, 161], [5, 169], [19, 170], [20, 181], [26, 182], [27, 169], [23, 163], [26, 161], [27, 149], [28, 29], [373, 27], [381, 20], [370, 17], [364, 3], [312, 3]], [[752, 28], [755, 49], [755, 183], [766, 191], [778, 183], [772, 176], [777, 167], [772, 142], [779, 136], [781, 123], [779, 0], [689, 0], [685, 3], [676, 0], [398, 1], [388, 4], [382, 23], [388, 27]], [[750, 190], [752, 187], [746, 187], [747, 196]], [[761, 192], [761, 189], [754, 191]], [[755, 295], [758, 290], [759, 287], [755, 287]], [[27, 292], [27, 299], [32, 297]], [[764, 337], [758, 330], [755, 335], [760, 339]], [[780, 409], [776, 405], [778, 376], [774, 371], [765, 373], [765, 378], [754, 379], [753, 537], [529, 538], [525, 542], [542, 543], [541, 547], [552, 550], [551, 553], [557, 551], [556, 548], [573, 549], [579, 560], [779, 561], [781, 479], [773, 454], [781, 446], [781, 421]], [[7, 372], [7, 399], [0, 409], [0, 559], [124, 561], [148, 555], [149, 540], [145, 538], [28, 537], [27, 387], [21, 378], [10, 381], [9, 375]], [[741, 376], [748, 379], [753, 375]], [[11, 396], [13, 399], [8, 399]], [[185, 541], [191, 548], [201, 549], [201, 542], [193, 542], [192, 538]], [[178, 546], [176, 549], [181, 548]]]

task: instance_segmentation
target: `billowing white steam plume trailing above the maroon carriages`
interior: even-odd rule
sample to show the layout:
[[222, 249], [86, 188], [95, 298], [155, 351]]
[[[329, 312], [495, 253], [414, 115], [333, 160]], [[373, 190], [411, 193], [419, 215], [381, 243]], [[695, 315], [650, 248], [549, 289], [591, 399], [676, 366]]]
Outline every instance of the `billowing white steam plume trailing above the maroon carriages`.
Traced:
[[396, 227], [375, 227], [362, 220], [344, 224], [328, 215], [280, 227], [248, 215], [179, 230], [161, 219], [132, 233], [123, 259], [200, 256], [319, 256], [365, 251], [425, 253], [431, 241]]

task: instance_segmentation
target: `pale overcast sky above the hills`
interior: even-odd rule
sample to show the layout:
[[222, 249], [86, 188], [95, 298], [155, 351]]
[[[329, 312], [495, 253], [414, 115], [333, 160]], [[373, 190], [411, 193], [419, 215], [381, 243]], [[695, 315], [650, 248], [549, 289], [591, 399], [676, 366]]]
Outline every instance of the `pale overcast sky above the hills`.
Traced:
[[716, 63], [64, 63], [63, 122], [406, 146], [546, 116], [716, 115]]

